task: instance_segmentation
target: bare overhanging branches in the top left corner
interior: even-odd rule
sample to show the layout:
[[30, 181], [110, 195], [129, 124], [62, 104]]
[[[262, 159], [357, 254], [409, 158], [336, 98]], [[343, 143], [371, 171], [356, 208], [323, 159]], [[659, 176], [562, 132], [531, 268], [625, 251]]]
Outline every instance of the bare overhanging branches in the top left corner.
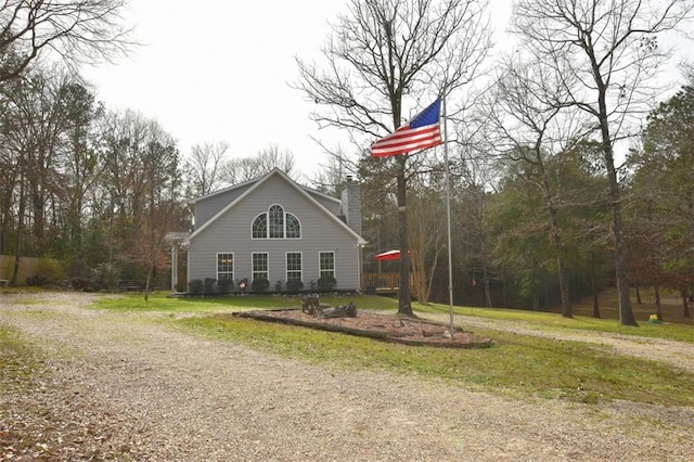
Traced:
[[133, 44], [121, 17], [127, 0], [7, 0], [0, 5], [0, 82], [20, 76], [41, 53], [69, 67], [111, 61]]

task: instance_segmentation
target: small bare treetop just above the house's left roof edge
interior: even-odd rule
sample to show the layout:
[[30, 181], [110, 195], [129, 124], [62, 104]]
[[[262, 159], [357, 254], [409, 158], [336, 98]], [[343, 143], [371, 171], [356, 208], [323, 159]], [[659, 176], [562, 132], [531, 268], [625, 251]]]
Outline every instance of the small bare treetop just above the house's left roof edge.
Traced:
[[227, 141], [193, 145], [187, 164], [195, 194], [207, 195], [222, 184], [221, 170], [227, 161]]

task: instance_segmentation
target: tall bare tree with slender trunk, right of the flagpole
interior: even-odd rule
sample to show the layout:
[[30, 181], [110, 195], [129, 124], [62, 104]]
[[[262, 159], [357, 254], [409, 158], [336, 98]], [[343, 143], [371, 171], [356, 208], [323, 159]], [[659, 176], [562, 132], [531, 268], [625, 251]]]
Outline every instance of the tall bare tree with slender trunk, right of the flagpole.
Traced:
[[[635, 134], [647, 104], [657, 94], [650, 85], [669, 56], [657, 35], [689, 18], [691, 0], [519, 0], [512, 30], [524, 50], [566, 77], [575, 106], [588, 113], [602, 142], [609, 180], [615, 272], [622, 325], [638, 325], [626, 270], [619, 166], [615, 147]], [[580, 82], [575, 87], [574, 81]]]

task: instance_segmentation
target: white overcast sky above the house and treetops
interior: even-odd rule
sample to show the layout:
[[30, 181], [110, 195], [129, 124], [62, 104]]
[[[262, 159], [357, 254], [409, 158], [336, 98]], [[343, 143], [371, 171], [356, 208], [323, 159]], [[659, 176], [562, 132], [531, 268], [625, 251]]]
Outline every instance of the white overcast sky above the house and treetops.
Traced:
[[[156, 119], [179, 142], [228, 141], [232, 157], [277, 144], [294, 154], [298, 170], [313, 176], [329, 146], [354, 149], [337, 130], [319, 131], [312, 104], [288, 87], [298, 76], [295, 55], [320, 59], [329, 21], [347, 0], [131, 0], [136, 38], [130, 59], [85, 68], [108, 108], [131, 108]], [[491, 0], [502, 34], [511, 0]], [[498, 41], [504, 42], [502, 37]], [[406, 112], [409, 111], [406, 108]]]

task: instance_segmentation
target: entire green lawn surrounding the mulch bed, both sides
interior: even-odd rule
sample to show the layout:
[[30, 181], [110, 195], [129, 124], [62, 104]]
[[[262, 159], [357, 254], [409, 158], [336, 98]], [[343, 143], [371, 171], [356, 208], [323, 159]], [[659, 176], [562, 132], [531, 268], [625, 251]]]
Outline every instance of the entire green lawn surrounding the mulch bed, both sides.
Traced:
[[[331, 305], [355, 301], [360, 309], [397, 311], [397, 299], [378, 296], [321, 297]], [[158, 322], [195, 335], [247, 345], [286, 358], [331, 368], [388, 371], [445, 380], [472, 389], [567, 399], [580, 402], [625, 399], [665, 406], [694, 406], [694, 374], [656, 361], [606, 351], [595, 345], [520, 335], [503, 330], [475, 329], [494, 339], [492, 348], [453, 350], [409, 347], [369, 338], [314, 331], [249, 319], [230, 311], [298, 308], [298, 297], [229, 296], [220, 298], [167, 298], [153, 294], [144, 303], [141, 294], [101, 297], [95, 308], [117, 311], [196, 312], [202, 316]], [[442, 305], [414, 304], [416, 312], [448, 313]], [[487, 318], [543, 332], [609, 332], [694, 342], [687, 324], [620, 326], [618, 321], [557, 313], [507, 309], [455, 307], [455, 316]], [[492, 324], [493, 325], [493, 324]]]

